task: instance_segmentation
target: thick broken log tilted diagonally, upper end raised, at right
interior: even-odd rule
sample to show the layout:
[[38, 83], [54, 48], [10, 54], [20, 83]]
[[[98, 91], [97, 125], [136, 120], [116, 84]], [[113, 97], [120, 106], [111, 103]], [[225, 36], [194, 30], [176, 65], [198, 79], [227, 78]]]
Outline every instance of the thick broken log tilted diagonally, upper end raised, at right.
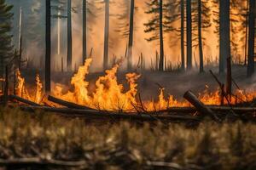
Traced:
[[207, 107], [199, 99], [197, 99], [195, 94], [193, 94], [191, 91], [186, 92], [183, 95], [183, 98], [187, 99], [191, 105], [194, 105], [196, 110], [203, 114], [202, 116], [211, 116], [215, 122], [221, 122], [218, 116], [216, 116], [209, 107]]

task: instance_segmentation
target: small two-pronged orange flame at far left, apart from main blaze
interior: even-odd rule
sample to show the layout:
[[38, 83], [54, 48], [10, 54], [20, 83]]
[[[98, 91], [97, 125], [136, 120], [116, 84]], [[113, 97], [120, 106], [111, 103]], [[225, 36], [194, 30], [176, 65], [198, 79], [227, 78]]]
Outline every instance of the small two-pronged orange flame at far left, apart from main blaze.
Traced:
[[43, 84], [40, 81], [39, 75], [36, 76], [36, 92], [32, 96], [32, 94], [29, 94], [26, 85], [25, 85], [25, 78], [21, 76], [20, 71], [16, 71], [16, 77], [17, 77], [17, 87], [15, 88], [16, 94], [20, 96], [21, 98], [31, 100], [35, 103], [40, 104], [42, 99], [42, 88]]

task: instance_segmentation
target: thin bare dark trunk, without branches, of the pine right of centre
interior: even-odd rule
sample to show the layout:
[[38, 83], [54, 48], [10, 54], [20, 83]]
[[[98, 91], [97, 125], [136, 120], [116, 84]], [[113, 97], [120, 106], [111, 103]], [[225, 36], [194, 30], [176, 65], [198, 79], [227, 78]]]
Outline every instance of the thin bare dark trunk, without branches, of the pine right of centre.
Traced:
[[163, 37], [163, 0], [160, 0], [160, 10], [159, 10], [159, 20], [160, 20], [160, 63], [159, 71], [164, 71], [164, 37]]

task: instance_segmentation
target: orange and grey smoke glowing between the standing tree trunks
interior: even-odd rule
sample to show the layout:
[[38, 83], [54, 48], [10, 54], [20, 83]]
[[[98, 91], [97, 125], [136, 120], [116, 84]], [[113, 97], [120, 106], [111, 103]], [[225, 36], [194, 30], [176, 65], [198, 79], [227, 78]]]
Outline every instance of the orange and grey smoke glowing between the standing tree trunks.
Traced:
[[[126, 4], [130, 5], [130, 0]], [[138, 57], [142, 53], [145, 58], [146, 67], [149, 68], [151, 60], [155, 60], [155, 52], [159, 51], [159, 42], [147, 42], [145, 39], [149, 37], [148, 33], [144, 32], [145, 27], [144, 23], [148, 22], [150, 17], [149, 14], [145, 14], [147, 10], [146, 2], [148, 0], [136, 0], [135, 1], [135, 31], [134, 31], [134, 47], [133, 47], [133, 65], [137, 65]], [[165, 0], [164, 3], [167, 3], [170, 0]], [[23, 7], [24, 11], [24, 23], [23, 23], [23, 41], [24, 41], [24, 58], [28, 58], [31, 62], [30, 66], [38, 68], [42, 67], [44, 63], [44, 1], [37, 0], [8, 0], [8, 3], [14, 4], [14, 42], [16, 45], [17, 40], [17, 30], [18, 26], [18, 16], [19, 16], [19, 7]], [[87, 37], [87, 55], [90, 54], [92, 50], [92, 65], [91, 71], [102, 71], [102, 58], [103, 58], [103, 37], [104, 37], [104, 3], [99, 0], [89, 0], [90, 3], [89, 9], [90, 14], [88, 14], [88, 37]], [[73, 13], [73, 69], [78, 68], [79, 65], [82, 65], [82, 1], [73, 0], [73, 8], [75, 8], [76, 13]], [[113, 56], [117, 59], [122, 59], [123, 65], [121, 69], [126, 68], [125, 61], [125, 48], [128, 44], [128, 37], [124, 37], [120, 32], [116, 31], [119, 27], [120, 21], [117, 17], [118, 14], [127, 13], [124, 11], [124, 8], [120, 8], [123, 1], [112, 0], [110, 3], [110, 32], [109, 32], [109, 64], [113, 62]], [[208, 1], [209, 5], [212, 6], [212, 1]], [[245, 3], [241, 3], [241, 6], [244, 6]], [[210, 28], [203, 30], [203, 37], [206, 37], [204, 40], [204, 54], [205, 62], [207, 60], [215, 61], [218, 60], [218, 35], [215, 33], [216, 24], [213, 23], [213, 11], [218, 12], [218, 7], [211, 8], [212, 14], [212, 26]], [[237, 14], [239, 12], [238, 8], [232, 8], [232, 14]], [[65, 15], [66, 12], [63, 12]], [[216, 18], [215, 18], [216, 19]], [[236, 18], [239, 20], [238, 23], [234, 23], [234, 27], [241, 26], [243, 21], [241, 18]], [[129, 15], [127, 15], [127, 25], [129, 24]], [[64, 69], [66, 68], [67, 60], [67, 20], [61, 19], [61, 54], [57, 55], [57, 20], [52, 20], [52, 68], [53, 71], [60, 71], [61, 69], [61, 58], [64, 61]], [[176, 29], [180, 26], [180, 21], [172, 24]], [[244, 42], [241, 42], [243, 37], [243, 30], [238, 30], [237, 33], [231, 35], [231, 38], [234, 42], [238, 43], [238, 50], [233, 53], [233, 55], [241, 56], [244, 53]], [[177, 62], [180, 62], [180, 41], [177, 37], [177, 32], [164, 33], [165, 38], [165, 54], [166, 59], [172, 62], [172, 65], [177, 65]], [[17, 46], [17, 45], [16, 45]], [[199, 63], [198, 59], [198, 49], [194, 48], [195, 59], [194, 62]], [[235, 58], [236, 56], [234, 56]]]

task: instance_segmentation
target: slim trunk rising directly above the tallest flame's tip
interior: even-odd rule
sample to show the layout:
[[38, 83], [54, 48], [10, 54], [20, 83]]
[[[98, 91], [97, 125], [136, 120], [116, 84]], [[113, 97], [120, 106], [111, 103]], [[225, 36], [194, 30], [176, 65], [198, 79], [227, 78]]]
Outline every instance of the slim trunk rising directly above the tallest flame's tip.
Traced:
[[84, 64], [85, 59], [87, 58], [87, 43], [86, 43], [86, 37], [87, 37], [87, 22], [86, 22], [86, 10], [87, 10], [87, 5], [86, 5], [86, 0], [83, 0], [83, 62]]

